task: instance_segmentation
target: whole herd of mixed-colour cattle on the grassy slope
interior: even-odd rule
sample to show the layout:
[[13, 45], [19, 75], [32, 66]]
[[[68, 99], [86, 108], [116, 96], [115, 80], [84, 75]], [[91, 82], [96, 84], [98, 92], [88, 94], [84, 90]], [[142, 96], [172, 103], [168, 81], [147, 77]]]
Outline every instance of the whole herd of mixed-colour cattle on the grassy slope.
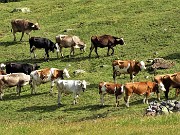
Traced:
[[[86, 44], [80, 40], [78, 36], [70, 35], [57, 35], [55, 36], [56, 43], [52, 42], [47, 38], [42, 37], [30, 37], [32, 30], [39, 30], [38, 23], [32, 23], [29, 20], [15, 19], [11, 21], [12, 32], [14, 35], [14, 41], [16, 41], [16, 32], [22, 32], [20, 41], [22, 40], [24, 33], [29, 35], [30, 54], [33, 53], [34, 58], [36, 57], [35, 49], [45, 49], [45, 60], [49, 60], [49, 51], [54, 52], [56, 50], [57, 57], [60, 52], [63, 57], [62, 49], [71, 48], [69, 57], [74, 55], [74, 49], [79, 48], [81, 51], [85, 51]], [[92, 36], [91, 47], [89, 58], [91, 57], [92, 51], [95, 49], [97, 57], [99, 57], [97, 48], [107, 47], [107, 56], [109, 56], [110, 49], [112, 50], [111, 55], [114, 54], [113, 47], [116, 45], [124, 45], [123, 38], [118, 38], [111, 35]], [[32, 58], [32, 57], [31, 57]], [[61, 105], [61, 93], [73, 93], [74, 101], [73, 104], [77, 103], [77, 97], [81, 91], [86, 89], [89, 84], [85, 80], [64, 80], [64, 78], [70, 78], [67, 68], [45, 68], [39, 69], [40, 66], [37, 64], [31, 65], [27, 63], [6, 63], [0, 64], [0, 99], [3, 99], [4, 88], [15, 87], [17, 88], [17, 94], [20, 96], [21, 87], [29, 84], [31, 87], [31, 94], [36, 93], [37, 86], [40, 84], [51, 82], [50, 93], [53, 93], [53, 86], [56, 84], [58, 89], [58, 106]], [[135, 60], [114, 60], [112, 62], [112, 74], [114, 82], [100, 82], [99, 94], [101, 104], [104, 105], [104, 96], [106, 94], [115, 95], [116, 106], [119, 106], [119, 99], [124, 96], [125, 105], [129, 107], [130, 96], [133, 93], [138, 95], [144, 95], [143, 103], [148, 103], [148, 98], [152, 92], [157, 94], [157, 99], [160, 100], [160, 91], [164, 91], [165, 98], [168, 99], [168, 93], [170, 87], [176, 88], [176, 96], [180, 92], [180, 72], [173, 74], [156, 75], [154, 81], [146, 82], [134, 82], [134, 77], [141, 70], [146, 69], [143, 61]], [[116, 81], [116, 76], [121, 74], [129, 74], [130, 82], [125, 84], [119, 84]]]

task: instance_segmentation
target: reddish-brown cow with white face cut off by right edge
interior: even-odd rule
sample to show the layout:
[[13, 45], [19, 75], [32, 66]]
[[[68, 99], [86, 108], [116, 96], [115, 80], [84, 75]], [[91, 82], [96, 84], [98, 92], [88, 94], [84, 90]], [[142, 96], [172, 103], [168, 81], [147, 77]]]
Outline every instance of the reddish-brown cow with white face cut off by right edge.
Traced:
[[159, 89], [164, 91], [165, 98], [168, 100], [170, 87], [176, 88], [176, 93], [178, 93], [179, 91], [178, 89], [180, 88], [180, 72], [174, 74], [157, 75], [154, 77], [154, 81], [158, 83]]

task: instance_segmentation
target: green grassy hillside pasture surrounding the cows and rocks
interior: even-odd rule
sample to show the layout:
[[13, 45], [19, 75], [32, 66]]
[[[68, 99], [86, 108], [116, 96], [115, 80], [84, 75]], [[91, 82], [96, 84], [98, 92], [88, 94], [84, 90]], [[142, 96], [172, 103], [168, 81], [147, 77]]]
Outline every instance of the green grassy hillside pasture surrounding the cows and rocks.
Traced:
[[[17, 7], [29, 7], [30, 13], [14, 12]], [[0, 63], [39, 63], [41, 68], [63, 69], [68, 64], [71, 79], [85, 79], [90, 83], [82, 93], [79, 104], [72, 105], [72, 95], [62, 97], [63, 106], [57, 106], [57, 90], [49, 95], [50, 83], [38, 87], [38, 94], [31, 95], [30, 87], [23, 87], [21, 97], [15, 88], [6, 89], [4, 100], [0, 102], [0, 133], [19, 134], [179, 134], [179, 114], [143, 117], [147, 105], [143, 97], [133, 95], [130, 107], [120, 100], [115, 107], [115, 98], [106, 96], [105, 106], [100, 107], [98, 83], [113, 81], [112, 60], [163, 57], [175, 62], [171, 69], [158, 70], [158, 74], [179, 72], [180, 68], [180, 1], [174, 0], [26, 0], [0, 3]], [[37, 59], [31, 59], [28, 36], [23, 42], [13, 42], [10, 21], [29, 19], [40, 24], [41, 30], [32, 31], [31, 36], [40, 36], [55, 42], [58, 34], [79, 36], [87, 44], [87, 50], [68, 57], [69, 49], [64, 49], [64, 58], [56, 58], [50, 53], [50, 61], [43, 59], [44, 50], [37, 50]], [[64, 32], [66, 29], [73, 29]], [[92, 52], [89, 59], [90, 37], [110, 34], [123, 37], [126, 45], [116, 46], [114, 56], [107, 57], [107, 49], [98, 49], [100, 58]], [[17, 33], [17, 40], [21, 34]], [[154, 55], [156, 53], [156, 55]], [[101, 68], [101, 65], [107, 65]], [[76, 69], [86, 73], [73, 75]], [[146, 76], [149, 76], [146, 79]], [[135, 81], [152, 80], [153, 74], [140, 72]], [[118, 83], [129, 81], [129, 76], [117, 78]], [[174, 99], [174, 89], [169, 94]], [[156, 98], [152, 95], [150, 101]], [[161, 94], [164, 99], [164, 94]], [[179, 100], [179, 98], [178, 98]]]

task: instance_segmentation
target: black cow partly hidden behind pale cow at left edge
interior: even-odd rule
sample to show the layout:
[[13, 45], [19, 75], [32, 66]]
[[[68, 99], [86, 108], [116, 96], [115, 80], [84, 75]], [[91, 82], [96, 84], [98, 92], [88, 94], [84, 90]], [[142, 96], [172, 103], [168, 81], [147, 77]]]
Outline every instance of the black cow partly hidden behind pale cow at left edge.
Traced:
[[40, 66], [37, 64], [31, 65], [28, 63], [7, 63], [6, 64], [6, 73], [25, 73], [30, 75], [34, 70], [39, 69]]

